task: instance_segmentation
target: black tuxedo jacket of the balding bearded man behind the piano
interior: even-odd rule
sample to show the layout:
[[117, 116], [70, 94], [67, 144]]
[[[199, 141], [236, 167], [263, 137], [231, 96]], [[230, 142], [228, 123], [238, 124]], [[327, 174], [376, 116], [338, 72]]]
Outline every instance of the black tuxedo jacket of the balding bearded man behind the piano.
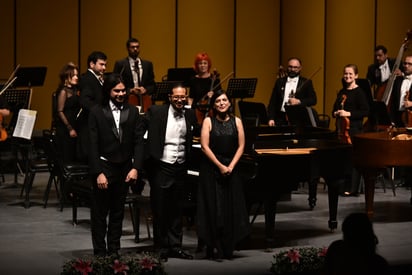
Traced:
[[[268, 119], [276, 119], [282, 113], [280, 109], [285, 96], [286, 81], [287, 77], [282, 77], [275, 82], [268, 105]], [[295, 98], [299, 99], [303, 106], [309, 107], [316, 104], [317, 98], [312, 80], [299, 77]]]

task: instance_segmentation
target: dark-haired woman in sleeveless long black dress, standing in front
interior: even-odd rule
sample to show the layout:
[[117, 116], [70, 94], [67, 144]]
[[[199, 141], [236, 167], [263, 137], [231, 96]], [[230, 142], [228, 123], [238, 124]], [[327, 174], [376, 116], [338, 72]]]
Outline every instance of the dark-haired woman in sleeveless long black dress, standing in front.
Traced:
[[198, 238], [207, 258], [230, 259], [236, 244], [250, 232], [243, 182], [238, 162], [245, 135], [240, 118], [230, 112], [226, 93], [216, 91], [210, 102], [213, 115], [203, 121], [198, 188]]

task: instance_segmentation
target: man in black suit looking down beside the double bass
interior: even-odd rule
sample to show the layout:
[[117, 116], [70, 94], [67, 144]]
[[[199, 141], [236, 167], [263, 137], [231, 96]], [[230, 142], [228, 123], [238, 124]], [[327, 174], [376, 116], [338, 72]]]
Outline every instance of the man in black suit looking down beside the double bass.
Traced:
[[378, 95], [378, 90], [388, 81], [394, 65], [395, 59], [388, 57], [388, 49], [383, 45], [376, 46], [375, 62], [368, 66], [366, 74], [375, 99]]

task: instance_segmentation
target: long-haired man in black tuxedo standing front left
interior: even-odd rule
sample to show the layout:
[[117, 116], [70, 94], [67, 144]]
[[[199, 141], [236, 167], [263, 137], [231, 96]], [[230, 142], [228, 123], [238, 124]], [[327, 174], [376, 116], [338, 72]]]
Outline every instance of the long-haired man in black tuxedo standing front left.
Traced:
[[89, 114], [91, 231], [97, 256], [119, 253], [129, 183], [137, 180], [143, 164], [144, 127], [137, 108], [125, 100], [120, 75], [110, 74], [103, 84], [102, 104], [92, 107]]

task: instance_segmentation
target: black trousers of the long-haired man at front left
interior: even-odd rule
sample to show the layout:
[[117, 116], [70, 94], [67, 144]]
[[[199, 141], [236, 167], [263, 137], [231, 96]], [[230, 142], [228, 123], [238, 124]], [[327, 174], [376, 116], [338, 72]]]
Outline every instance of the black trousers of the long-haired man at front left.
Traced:
[[114, 254], [120, 249], [124, 204], [129, 189], [128, 183], [124, 180], [131, 167], [127, 163], [103, 163], [104, 174], [109, 185], [107, 189], [99, 189], [97, 188], [96, 177], [92, 177], [92, 205], [90, 211], [93, 252], [94, 255], [98, 256]]

